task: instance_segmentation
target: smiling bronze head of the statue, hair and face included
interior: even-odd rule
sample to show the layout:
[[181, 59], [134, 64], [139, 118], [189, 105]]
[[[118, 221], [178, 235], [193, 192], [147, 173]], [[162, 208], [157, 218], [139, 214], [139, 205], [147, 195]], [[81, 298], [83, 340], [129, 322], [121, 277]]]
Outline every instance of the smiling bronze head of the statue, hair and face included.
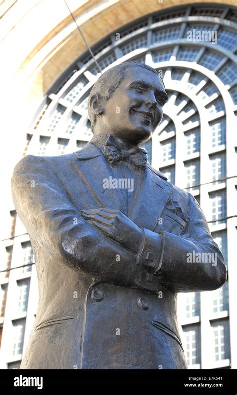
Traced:
[[103, 73], [90, 92], [92, 131], [128, 143], [147, 141], [162, 120], [167, 99], [156, 70], [140, 62], [121, 63]]

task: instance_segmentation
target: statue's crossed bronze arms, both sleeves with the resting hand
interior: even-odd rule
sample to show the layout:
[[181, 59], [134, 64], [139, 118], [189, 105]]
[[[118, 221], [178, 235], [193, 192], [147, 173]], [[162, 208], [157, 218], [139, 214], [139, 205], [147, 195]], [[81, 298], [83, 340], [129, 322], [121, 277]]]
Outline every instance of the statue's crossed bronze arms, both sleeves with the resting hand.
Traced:
[[[191, 195], [190, 221], [180, 237], [140, 229], [120, 210], [76, 208], [52, 166], [39, 157], [28, 155], [15, 167], [12, 194], [30, 237], [78, 272], [127, 287], [147, 284], [150, 289], [142, 280], [148, 273], [173, 292], [212, 290], [226, 280], [223, 256]], [[216, 253], [217, 264], [188, 263], [187, 254], [193, 251]]]

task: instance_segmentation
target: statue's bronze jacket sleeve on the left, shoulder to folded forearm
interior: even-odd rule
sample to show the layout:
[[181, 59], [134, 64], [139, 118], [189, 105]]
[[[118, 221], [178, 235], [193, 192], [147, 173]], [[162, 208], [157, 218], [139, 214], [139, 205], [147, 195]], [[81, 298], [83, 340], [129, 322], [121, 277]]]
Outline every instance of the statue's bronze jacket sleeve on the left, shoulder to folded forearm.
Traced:
[[95, 278], [139, 286], [143, 269], [136, 264], [136, 256], [80, 215], [52, 165], [27, 155], [16, 165], [11, 184], [20, 219], [30, 237], [49, 255]]

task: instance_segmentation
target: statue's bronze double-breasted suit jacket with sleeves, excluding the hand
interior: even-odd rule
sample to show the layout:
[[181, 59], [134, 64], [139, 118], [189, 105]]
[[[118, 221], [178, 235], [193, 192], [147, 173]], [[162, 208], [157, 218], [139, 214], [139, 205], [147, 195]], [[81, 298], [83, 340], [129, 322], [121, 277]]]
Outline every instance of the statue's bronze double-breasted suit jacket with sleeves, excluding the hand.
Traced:
[[[129, 212], [121, 190], [103, 188], [109, 176], [111, 166], [91, 143], [74, 155], [28, 155], [15, 167], [13, 199], [32, 242], [39, 285], [21, 368], [187, 368], [177, 292], [223, 285], [223, 256], [197, 201], [159, 171], [146, 166]], [[139, 254], [80, 215], [103, 206], [120, 209], [144, 229]], [[217, 253], [217, 265], [188, 263], [193, 251]]]

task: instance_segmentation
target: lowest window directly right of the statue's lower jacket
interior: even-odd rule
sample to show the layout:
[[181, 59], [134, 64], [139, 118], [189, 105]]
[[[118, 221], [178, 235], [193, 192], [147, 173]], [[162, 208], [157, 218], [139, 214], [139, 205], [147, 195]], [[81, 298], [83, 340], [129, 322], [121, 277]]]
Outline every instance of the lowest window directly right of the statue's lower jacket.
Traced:
[[183, 328], [183, 345], [186, 354], [187, 365], [200, 363], [200, 327], [189, 325]]

